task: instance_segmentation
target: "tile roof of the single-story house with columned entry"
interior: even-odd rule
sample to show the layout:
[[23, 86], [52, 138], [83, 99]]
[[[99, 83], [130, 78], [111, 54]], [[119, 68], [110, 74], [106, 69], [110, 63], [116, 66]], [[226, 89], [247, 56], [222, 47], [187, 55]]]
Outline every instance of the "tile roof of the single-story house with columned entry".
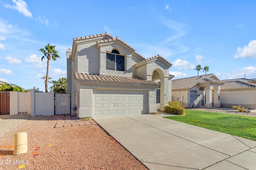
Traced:
[[194, 86], [196, 86], [199, 83], [203, 82], [214, 82], [214, 83], [220, 83], [223, 82], [219, 80], [216, 76], [213, 78], [214, 74], [206, 74], [202, 76], [194, 76], [194, 77], [188, 77], [188, 78], [181, 78], [172, 80], [172, 90], [178, 90], [178, 89], [190, 89]]

